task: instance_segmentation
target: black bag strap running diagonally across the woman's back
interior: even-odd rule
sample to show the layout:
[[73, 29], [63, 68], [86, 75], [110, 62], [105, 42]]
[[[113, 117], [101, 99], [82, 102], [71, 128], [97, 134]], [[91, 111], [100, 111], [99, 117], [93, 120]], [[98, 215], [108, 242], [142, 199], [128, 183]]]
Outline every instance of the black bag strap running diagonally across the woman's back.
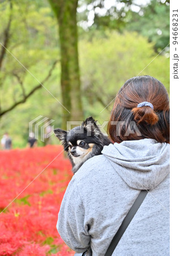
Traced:
[[113, 237], [113, 240], [110, 243], [105, 256], [111, 256], [113, 254], [115, 247], [118, 245], [118, 242], [120, 241], [121, 237], [123, 236], [123, 233], [125, 233], [125, 230], [127, 229], [128, 225], [130, 224], [132, 218], [135, 216], [140, 205], [143, 203], [143, 200], [145, 199], [145, 196], [147, 195], [147, 193], [148, 193], [148, 190], [142, 190], [139, 193], [139, 196], [136, 198], [134, 204], [132, 204], [131, 209], [128, 211], [128, 213], [127, 213], [126, 217], [124, 218], [121, 226], [119, 227], [117, 233]]

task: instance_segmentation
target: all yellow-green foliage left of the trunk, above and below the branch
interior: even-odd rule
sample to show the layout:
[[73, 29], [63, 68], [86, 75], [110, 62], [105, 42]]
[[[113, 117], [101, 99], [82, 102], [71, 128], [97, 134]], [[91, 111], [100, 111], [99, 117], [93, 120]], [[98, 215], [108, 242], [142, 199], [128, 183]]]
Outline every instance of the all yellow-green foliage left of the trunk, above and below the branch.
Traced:
[[[7, 49], [13, 56], [10, 52], [6, 52], [2, 63], [0, 76], [2, 111], [22, 99], [22, 86], [25, 93], [28, 93], [44, 80], [52, 66], [52, 61], [59, 59], [57, 24], [50, 7], [46, 2], [43, 4], [42, 2], [12, 1], [12, 20]], [[3, 10], [1, 11], [3, 26], [0, 28], [0, 42], [4, 40], [3, 32], [10, 16], [8, 3], [5, 1], [0, 5]], [[19, 105], [1, 118], [0, 135], [8, 131], [14, 147], [26, 146], [28, 123], [33, 118], [40, 114], [53, 118], [59, 104], [50, 93], [57, 98], [60, 96], [59, 65], [55, 66], [52, 77], [44, 86], [45, 88], [37, 91], [23, 106]], [[45, 100], [43, 101], [42, 98]], [[42, 145], [42, 143], [38, 144]]]

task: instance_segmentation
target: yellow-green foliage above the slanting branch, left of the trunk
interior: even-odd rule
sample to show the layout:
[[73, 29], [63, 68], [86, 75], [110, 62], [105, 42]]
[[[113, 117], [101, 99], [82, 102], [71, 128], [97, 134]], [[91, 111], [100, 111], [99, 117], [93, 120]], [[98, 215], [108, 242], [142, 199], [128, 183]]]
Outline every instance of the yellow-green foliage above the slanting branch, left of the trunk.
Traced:
[[[10, 12], [8, 1], [3, 7], [1, 42]], [[28, 93], [45, 78], [52, 60], [57, 59], [59, 52], [57, 42], [57, 26], [49, 7], [41, 7], [37, 10], [33, 1], [28, 1], [28, 5], [26, 1], [21, 3], [12, 1], [8, 51], [3, 58], [0, 77], [2, 111], [10, 107], [12, 102], [22, 98], [22, 86]]]

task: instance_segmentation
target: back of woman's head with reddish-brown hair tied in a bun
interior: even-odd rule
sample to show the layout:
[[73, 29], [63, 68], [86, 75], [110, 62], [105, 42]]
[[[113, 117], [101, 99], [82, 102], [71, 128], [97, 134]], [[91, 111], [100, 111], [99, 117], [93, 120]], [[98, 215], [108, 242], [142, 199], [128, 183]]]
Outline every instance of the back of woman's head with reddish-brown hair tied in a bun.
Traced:
[[[142, 102], [150, 104], [138, 106]], [[127, 80], [115, 98], [108, 133], [114, 142], [152, 138], [169, 143], [169, 96], [164, 85], [151, 76]]]

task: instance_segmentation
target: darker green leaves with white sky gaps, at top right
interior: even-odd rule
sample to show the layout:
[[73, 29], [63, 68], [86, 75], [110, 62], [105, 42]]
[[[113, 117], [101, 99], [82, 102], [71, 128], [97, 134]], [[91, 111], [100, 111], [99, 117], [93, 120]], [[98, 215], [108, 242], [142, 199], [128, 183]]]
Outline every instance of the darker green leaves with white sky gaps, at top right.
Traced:
[[[136, 31], [154, 43], [156, 52], [169, 44], [169, 18], [169, 1], [79, 1], [79, 26], [89, 31], [88, 36], [93, 36], [96, 30], [104, 33], [106, 28]], [[83, 33], [82, 29], [80, 32]]]

